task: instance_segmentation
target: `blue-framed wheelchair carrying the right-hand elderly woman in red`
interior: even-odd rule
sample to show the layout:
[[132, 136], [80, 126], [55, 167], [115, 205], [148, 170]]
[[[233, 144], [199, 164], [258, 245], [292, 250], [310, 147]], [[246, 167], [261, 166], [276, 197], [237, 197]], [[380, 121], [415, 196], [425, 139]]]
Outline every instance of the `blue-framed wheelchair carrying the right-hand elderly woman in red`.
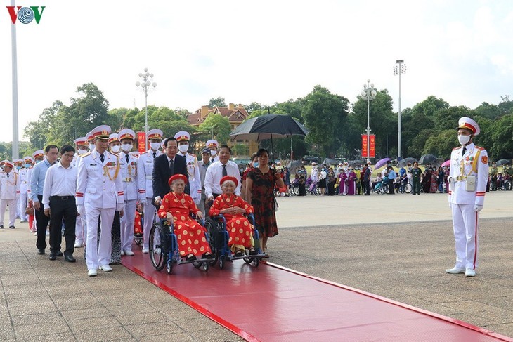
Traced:
[[[249, 222], [252, 223], [253, 227], [256, 227], [253, 214], [249, 214], [247, 218]], [[261, 258], [266, 256], [260, 249], [259, 231], [256, 228], [253, 229], [253, 240], [254, 249], [257, 251], [257, 254], [249, 254], [249, 249], [245, 249], [245, 253], [242, 254], [242, 256], [235, 256], [228, 246], [230, 235], [228, 234], [228, 230], [226, 230], [226, 218], [223, 214], [207, 218], [205, 228], [207, 228], [207, 232], [211, 238], [210, 246], [212, 253], [214, 253], [212, 265], [215, 265], [219, 261], [219, 268], [221, 268], [221, 270], [224, 268], [226, 261], [238, 259], [243, 259], [245, 263], [253, 263], [255, 267], [258, 267]]]

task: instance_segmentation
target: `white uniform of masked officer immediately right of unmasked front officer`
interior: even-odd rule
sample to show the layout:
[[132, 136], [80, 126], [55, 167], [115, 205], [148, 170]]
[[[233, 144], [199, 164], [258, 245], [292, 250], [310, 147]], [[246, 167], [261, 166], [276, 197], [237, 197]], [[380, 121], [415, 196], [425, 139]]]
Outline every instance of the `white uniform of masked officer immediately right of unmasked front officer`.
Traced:
[[[126, 156], [129, 157], [128, 162]], [[138, 159], [130, 153], [119, 153], [121, 176], [123, 180], [125, 212], [121, 218], [121, 250], [131, 251], [134, 239], [134, 220], [138, 199], [137, 163]]]

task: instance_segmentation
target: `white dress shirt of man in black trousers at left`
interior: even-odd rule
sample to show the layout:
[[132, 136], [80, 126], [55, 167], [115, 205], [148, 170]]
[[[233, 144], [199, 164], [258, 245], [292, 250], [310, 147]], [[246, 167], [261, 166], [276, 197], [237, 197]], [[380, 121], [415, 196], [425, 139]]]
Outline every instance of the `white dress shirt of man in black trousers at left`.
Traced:
[[77, 167], [71, 164], [67, 169], [60, 162], [50, 166], [44, 178], [43, 205], [48, 208], [51, 196], [74, 196], [77, 174]]

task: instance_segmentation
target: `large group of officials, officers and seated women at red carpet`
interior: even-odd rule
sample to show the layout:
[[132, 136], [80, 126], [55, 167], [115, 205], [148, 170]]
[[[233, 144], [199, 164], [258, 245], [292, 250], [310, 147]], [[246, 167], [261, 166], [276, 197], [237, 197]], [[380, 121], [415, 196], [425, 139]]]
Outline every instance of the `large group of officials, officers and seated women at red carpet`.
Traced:
[[[133, 151], [135, 140], [131, 129], [111, 133], [102, 125], [74, 140], [74, 146], [48, 145], [32, 157], [4, 160], [0, 229], [9, 206], [8, 227], [15, 229], [17, 217], [28, 221], [37, 236], [37, 254], [46, 254], [49, 244], [49, 260], [64, 256], [74, 263], [75, 249], [85, 247], [91, 277], [98, 270], [112, 271], [110, 265], [123, 255], [134, 256], [134, 227], [142, 231], [142, 253], [148, 254], [150, 229], [160, 219], [174, 226], [184, 259], [213, 258], [201, 237], [204, 227], [191, 214], [204, 218], [223, 213], [235, 255], [246, 250], [253, 255], [258, 248], [267, 256], [267, 239], [278, 234], [273, 190], [285, 185], [281, 172], [269, 166], [266, 150], [259, 150], [259, 164], [241, 181], [230, 147], [214, 139], [205, 144], [200, 162], [188, 152], [186, 131], [164, 139], [160, 129], [152, 129], [147, 133], [149, 148], [142, 153]], [[249, 213], [254, 213], [255, 226], [242, 219]], [[261, 238], [258, 246], [252, 237], [255, 229]]]

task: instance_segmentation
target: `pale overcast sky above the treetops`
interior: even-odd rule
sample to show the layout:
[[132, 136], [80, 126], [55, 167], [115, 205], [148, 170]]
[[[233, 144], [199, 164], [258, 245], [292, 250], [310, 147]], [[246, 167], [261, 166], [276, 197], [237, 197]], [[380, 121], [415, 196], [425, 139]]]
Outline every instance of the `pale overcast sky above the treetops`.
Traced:
[[[2, 1], [5, 6], [9, 0]], [[117, 107], [193, 112], [210, 98], [283, 102], [320, 84], [351, 103], [367, 79], [398, 110], [427, 96], [475, 108], [513, 95], [513, 1], [17, 0], [46, 6], [18, 22], [20, 138], [27, 122], [78, 86], [96, 84]], [[0, 141], [12, 140], [11, 18], [0, 10]]]

